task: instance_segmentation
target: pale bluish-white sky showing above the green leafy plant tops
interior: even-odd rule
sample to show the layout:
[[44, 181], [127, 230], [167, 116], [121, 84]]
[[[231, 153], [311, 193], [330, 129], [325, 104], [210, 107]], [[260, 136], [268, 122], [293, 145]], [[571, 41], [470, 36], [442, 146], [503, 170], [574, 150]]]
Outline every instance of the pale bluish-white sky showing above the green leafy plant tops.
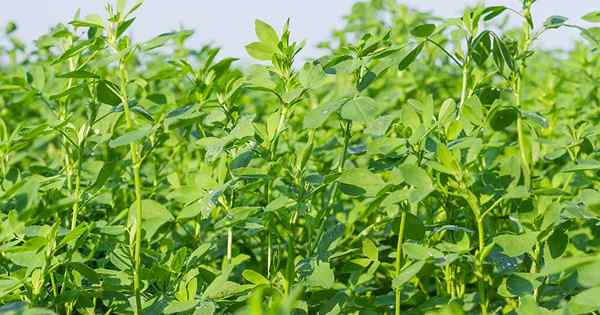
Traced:
[[[398, 0], [414, 8], [431, 11], [443, 17], [457, 16], [468, 4], [477, 0]], [[129, 2], [133, 3], [134, 0]], [[342, 17], [350, 12], [355, 0], [146, 0], [137, 12], [132, 28], [135, 40], [144, 40], [180, 26], [196, 32], [191, 45], [213, 42], [223, 48], [222, 54], [248, 60], [244, 45], [255, 39], [254, 19], [267, 21], [280, 29], [291, 18], [292, 36], [307, 40], [302, 57], [318, 56], [314, 46], [342, 25]], [[0, 9], [0, 25], [16, 21], [18, 35], [26, 42], [58, 22], [69, 21], [77, 8], [81, 15], [104, 14], [105, 0], [4, 0]], [[518, 9], [519, 0], [488, 0], [487, 5], [506, 5]], [[600, 0], [538, 0], [534, 5], [536, 25], [551, 15], [562, 15], [571, 23], [586, 25], [580, 17], [600, 9]], [[551, 31], [544, 35], [546, 47], [570, 47], [578, 38], [573, 30]]]

